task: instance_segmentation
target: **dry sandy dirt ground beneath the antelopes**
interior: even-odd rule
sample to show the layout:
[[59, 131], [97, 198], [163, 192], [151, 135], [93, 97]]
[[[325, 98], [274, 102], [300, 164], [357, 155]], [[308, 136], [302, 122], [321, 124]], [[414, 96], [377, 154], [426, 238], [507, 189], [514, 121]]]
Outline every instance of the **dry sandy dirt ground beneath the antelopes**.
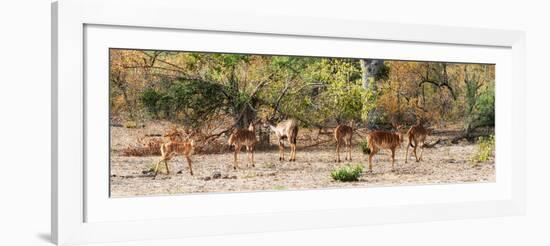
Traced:
[[[191, 157], [194, 171], [194, 176], [191, 176], [184, 158], [178, 156], [169, 162], [170, 175], [166, 175], [164, 168], [161, 168], [159, 175], [153, 178], [147, 170], [159, 160], [159, 156], [127, 157], [120, 150], [134, 143], [136, 135], [162, 132], [160, 130], [163, 128], [163, 125], [140, 129], [111, 128], [112, 197], [495, 181], [494, 159], [472, 165], [470, 157], [477, 150], [477, 145], [467, 141], [448, 143], [447, 140], [452, 137], [451, 131], [434, 131], [428, 142], [436, 139], [443, 141], [433, 148], [425, 149], [421, 162], [415, 162], [414, 157], [410, 157], [409, 162], [405, 163], [406, 142], [403, 143], [396, 153], [394, 171], [391, 170], [389, 150], [383, 150], [375, 156], [373, 172], [369, 173], [367, 156], [360, 152], [357, 144], [354, 144], [352, 151], [353, 161], [344, 161], [344, 154], [341, 153], [342, 162], [336, 163], [332, 142], [301, 149], [299, 140], [296, 162], [280, 162], [278, 151], [274, 148], [256, 151], [256, 166], [247, 167], [247, 156], [243, 151], [239, 155], [239, 168], [233, 170], [232, 152], [196, 154]], [[323, 137], [329, 139], [332, 136]], [[354, 136], [355, 142], [360, 140], [361, 136]], [[275, 142], [274, 136], [271, 141]], [[288, 148], [286, 151], [288, 159]], [[360, 180], [332, 180], [330, 172], [348, 163], [365, 166]]]

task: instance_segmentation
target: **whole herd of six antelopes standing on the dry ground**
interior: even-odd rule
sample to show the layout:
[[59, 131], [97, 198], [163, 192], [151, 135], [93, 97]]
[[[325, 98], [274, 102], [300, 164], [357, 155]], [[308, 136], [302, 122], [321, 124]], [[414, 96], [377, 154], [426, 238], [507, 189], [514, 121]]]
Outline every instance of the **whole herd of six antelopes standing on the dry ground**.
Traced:
[[[234, 146], [234, 161], [233, 169], [238, 168], [238, 153], [241, 151], [242, 147], [246, 147], [248, 162], [254, 167], [254, 147], [258, 140], [256, 139], [256, 124], [258, 122], [250, 123], [247, 129], [236, 129], [229, 136], [228, 144]], [[269, 128], [272, 132], [275, 133], [278, 139], [279, 145], [279, 161], [285, 160], [285, 140], [290, 146], [290, 158], [288, 159], [291, 162], [296, 161], [296, 142], [298, 136], [298, 121], [296, 119], [288, 119], [278, 124], [273, 124], [270, 121], [263, 121], [262, 126]], [[390, 150], [391, 151], [391, 162], [392, 170], [394, 170], [395, 164], [395, 151], [397, 148], [400, 148], [404, 141], [404, 134], [401, 132], [401, 125], [393, 125], [394, 131], [382, 131], [375, 130], [367, 133], [366, 140], [368, 151], [368, 164], [369, 172], [372, 172], [372, 158], [380, 150]], [[354, 133], [354, 125], [351, 122], [349, 125], [339, 124], [334, 128], [334, 140], [336, 142], [336, 162], [340, 162], [340, 147], [345, 146], [345, 160], [351, 161], [351, 149], [352, 149], [352, 139]], [[186, 136], [184, 136], [186, 135]], [[416, 162], [422, 161], [422, 153], [424, 149], [424, 142], [426, 137], [429, 135], [429, 131], [420, 123], [411, 126], [406, 133], [408, 139], [408, 144], [406, 146], [405, 154], [405, 163], [409, 159], [409, 147], [413, 148], [413, 153], [416, 159]], [[192, 134], [186, 132], [185, 134], [172, 129], [164, 135], [168, 139], [166, 143], [160, 144], [161, 158], [157, 162], [155, 167], [155, 177], [158, 174], [158, 167], [160, 163], [164, 162], [166, 167], [167, 174], [170, 173], [168, 168], [168, 161], [171, 160], [176, 155], [180, 154], [184, 156], [189, 165], [189, 173], [193, 175], [193, 166], [190, 156], [193, 154], [195, 148], [195, 142], [191, 138]], [[417, 155], [417, 148], [420, 148], [420, 155]], [[247, 163], [248, 167], [248, 163]]]

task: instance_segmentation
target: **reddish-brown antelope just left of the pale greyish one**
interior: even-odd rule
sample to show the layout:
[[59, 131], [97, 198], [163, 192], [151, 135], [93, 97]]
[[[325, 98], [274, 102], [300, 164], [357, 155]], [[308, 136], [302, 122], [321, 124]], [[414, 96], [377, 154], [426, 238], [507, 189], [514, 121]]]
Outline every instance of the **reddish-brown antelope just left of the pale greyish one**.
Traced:
[[[235, 146], [235, 160], [233, 162], [233, 169], [237, 169], [239, 165], [238, 153], [241, 152], [241, 148], [246, 146], [246, 151], [248, 155], [249, 162], [252, 162], [254, 167], [254, 145], [256, 145], [256, 128], [254, 123], [250, 123], [248, 129], [237, 129], [231, 136], [229, 136], [229, 145]], [[247, 163], [248, 166], [248, 163]]]

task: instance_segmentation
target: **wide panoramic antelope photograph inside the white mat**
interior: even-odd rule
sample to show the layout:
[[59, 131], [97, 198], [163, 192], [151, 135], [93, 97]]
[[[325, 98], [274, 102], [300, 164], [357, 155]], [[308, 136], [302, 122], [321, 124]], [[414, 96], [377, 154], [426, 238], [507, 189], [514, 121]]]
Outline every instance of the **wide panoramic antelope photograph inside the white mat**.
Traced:
[[111, 197], [495, 182], [494, 64], [111, 48], [109, 121]]

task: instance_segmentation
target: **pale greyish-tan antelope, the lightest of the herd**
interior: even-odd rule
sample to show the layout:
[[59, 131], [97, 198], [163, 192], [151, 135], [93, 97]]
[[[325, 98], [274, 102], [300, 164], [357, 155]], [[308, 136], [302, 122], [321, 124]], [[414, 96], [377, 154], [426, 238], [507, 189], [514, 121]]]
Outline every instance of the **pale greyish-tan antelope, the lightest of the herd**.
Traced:
[[290, 159], [289, 161], [296, 161], [296, 138], [298, 137], [298, 121], [295, 119], [288, 119], [280, 122], [276, 126], [266, 121], [264, 126], [269, 127], [271, 131], [275, 132], [279, 140], [279, 161], [285, 160], [285, 144], [284, 140], [287, 139], [290, 145]]

